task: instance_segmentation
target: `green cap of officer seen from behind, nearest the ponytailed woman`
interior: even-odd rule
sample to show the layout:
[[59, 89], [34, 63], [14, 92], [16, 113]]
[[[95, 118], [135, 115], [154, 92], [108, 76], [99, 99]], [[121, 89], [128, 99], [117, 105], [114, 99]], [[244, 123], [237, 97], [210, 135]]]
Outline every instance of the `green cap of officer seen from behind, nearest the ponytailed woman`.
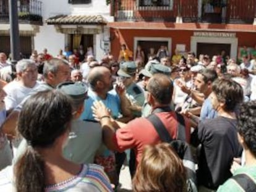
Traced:
[[82, 82], [67, 81], [60, 83], [56, 89], [69, 95], [72, 99], [87, 99], [88, 86]]

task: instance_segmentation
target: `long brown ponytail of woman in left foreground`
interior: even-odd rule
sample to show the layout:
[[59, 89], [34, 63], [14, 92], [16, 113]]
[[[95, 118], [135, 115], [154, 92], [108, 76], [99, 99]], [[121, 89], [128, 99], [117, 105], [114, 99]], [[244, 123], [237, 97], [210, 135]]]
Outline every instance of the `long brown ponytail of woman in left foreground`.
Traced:
[[45, 191], [45, 162], [40, 154], [28, 145], [25, 153], [14, 167], [15, 186], [17, 192]]

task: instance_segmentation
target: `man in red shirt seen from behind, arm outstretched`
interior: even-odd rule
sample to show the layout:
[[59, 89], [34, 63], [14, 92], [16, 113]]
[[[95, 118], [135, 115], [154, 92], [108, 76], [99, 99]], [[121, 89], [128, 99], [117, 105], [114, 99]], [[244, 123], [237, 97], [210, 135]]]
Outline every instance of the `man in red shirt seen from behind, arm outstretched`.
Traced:
[[[147, 85], [147, 102], [154, 110], [166, 109], [171, 103], [173, 95], [173, 82], [163, 74], [155, 74], [150, 78]], [[113, 151], [125, 151], [134, 148], [136, 164], [140, 162], [142, 151], [147, 144], [160, 143], [160, 137], [151, 122], [143, 117], [134, 119], [127, 124], [111, 119], [110, 111], [103, 102], [96, 101], [93, 106], [93, 114], [98, 119], [103, 128], [103, 141], [106, 146]], [[177, 117], [173, 111], [158, 112], [160, 118], [169, 135], [177, 138]], [[190, 140], [189, 121], [184, 117], [186, 125], [186, 141]]]

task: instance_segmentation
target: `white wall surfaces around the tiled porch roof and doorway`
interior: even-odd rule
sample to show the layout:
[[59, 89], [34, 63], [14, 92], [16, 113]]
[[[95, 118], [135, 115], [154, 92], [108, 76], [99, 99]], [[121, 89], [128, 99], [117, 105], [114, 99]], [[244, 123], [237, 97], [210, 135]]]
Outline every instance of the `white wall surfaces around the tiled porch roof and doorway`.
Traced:
[[[43, 10], [42, 16], [44, 24], [40, 27], [40, 32], [34, 38], [35, 49], [38, 52], [47, 48], [48, 52], [56, 56], [59, 49], [64, 49], [65, 35], [58, 33], [54, 25], [47, 25], [45, 20], [55, 15], [102, 15], [109, 22], [113, 21], [113, 17], [109, 16], [110, 7], [106, 6], [105, 0], [92, 0], [91, 4], [69, 4], [68, 0], [42, 0]], [[100, 59], [104, 51], [100, 49], [100, 40], [103, 36], [96, 35], [94, 38], [94, 46], [96, 58]]]

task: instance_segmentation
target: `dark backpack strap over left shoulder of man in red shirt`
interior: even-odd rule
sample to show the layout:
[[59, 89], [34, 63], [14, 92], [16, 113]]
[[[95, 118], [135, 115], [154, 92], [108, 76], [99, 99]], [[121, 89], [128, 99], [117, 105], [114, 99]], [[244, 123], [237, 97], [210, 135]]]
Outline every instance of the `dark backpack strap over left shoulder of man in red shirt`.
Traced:
[[169, 143], [169, 142], [173, 141], [173, 139], [169, 135], [168, 130], [166, 130], [166, 128], [164, 127], [163, 122], [161, 122], [161, 120], [159, 119], [158, 116], [156, 116], [156, 114], [151, 114], [147, 119], [154, 126], [154, 128], [155, 128], [156, 132], [158, 133], [161, 141], [166, 142], [166, 143]]

